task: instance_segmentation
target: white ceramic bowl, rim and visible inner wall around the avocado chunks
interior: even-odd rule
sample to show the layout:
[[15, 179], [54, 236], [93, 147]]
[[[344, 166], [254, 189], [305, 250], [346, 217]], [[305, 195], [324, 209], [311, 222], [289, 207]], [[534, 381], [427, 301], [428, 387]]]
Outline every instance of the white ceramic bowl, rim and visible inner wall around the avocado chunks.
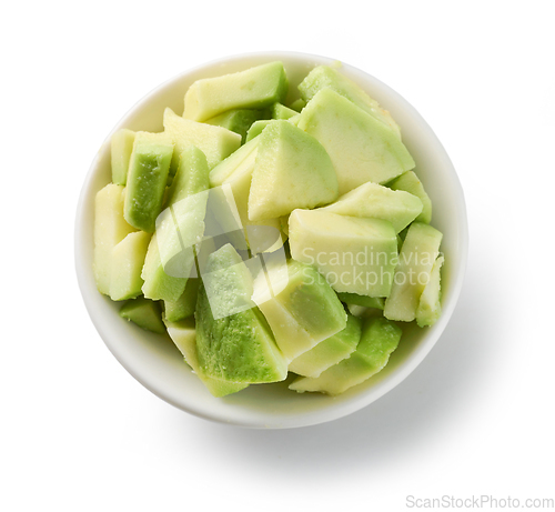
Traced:
[[[183, 111], [183, 97], [195, 80], [240, 71], [281, 60], [290, 90], [316, 64], [333, 59], [292, 52], [250, 53], [224, 58], [186, 71], [148, 94], [113, 128], [161, 131], [165, 107]], [[357, 411], [402, 382], [426, 357], [447, 324], [463, 284], [467, 254], [467, 221], [461, 183], [455, 169], [416, 110], [374, 77], [343, 64], [342, 72], [355, 80], [400, 124], [403, 141], [416, 161], [416, 171], [432, 198], [433, 225], [444, 233], [442, 250], [443, 313], [428, 329], [408, 329], [387, 367], [363, 384], [330, 398], [319, 393], [297, 394], [285, 383], [252, 385], [223, 399], [213, 398], [191, 373], [171, 341], [150, 334], [118, 315], [120, 304], [97, 291], [92, 274], [93, 204], [95, 193], [111, 179], [110, 137], [91, 164], [79, 201], [75, 222], [75, 264], [79, 285], [89, 314], [105, 344], [120, 363], [145, 388], [189, 413], [222, 423], [250, 428], [293, 428], [323, 423]]]

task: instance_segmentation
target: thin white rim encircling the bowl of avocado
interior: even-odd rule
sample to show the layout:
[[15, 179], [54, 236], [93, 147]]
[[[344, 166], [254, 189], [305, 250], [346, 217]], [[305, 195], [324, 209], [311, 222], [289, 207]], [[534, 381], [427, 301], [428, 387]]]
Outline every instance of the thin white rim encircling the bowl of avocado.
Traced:
[[430, 353], [433, 347], [436, 344], [438, 339], [441, 338], [443, 331], [445, 330], [454, 310], [458, 298], [461, 295], [461, 291], [464, 283], [464, 278], [466, 273], [466, 264], [467, 264], [467, 253], [468, 253], [468, 222], [467, 222], [467, 213], [466, 213], [466, 204], [464, 200], [464, 192], [461, 185], [461, 181], [456, 173], [456, 170], [447, 155], [443, 144], [438, 140], [438, 138], [433, 132], [432, 128], [427, 124], [424, 118], [416, 111], [414, 107], [412, 107], [408, 101], [406, 101], [401, 94], [394, 91], [392, 88], [381, 82], [379, 79], [373, 77], [372, 74], [363, 71], [362, 69], [355, 68], [349, 63], [341, 61], [343, 69], [346, 69], [349, 72], [359, 74], [361, 77], [365, 77], [371, 79], [377, 87], [382, 90], [386, 91], [387, 96], [392, 96], [396, 101], [403, 104], [403, 109], [406, 109], [411, 118], [413, 118], [420, 126], [420, 129], [426, 132], [426, 138], [431, 139], [434, 142], [435, 151], [438, 153], [438, 157], [442, 159], [442, 162], [445, 164], [446, 169], [450, 172], [450, 181], [456, 194], [456, 212], [457, 212], [457, 229], [458, 229], [458, 238], [457, 238], [457, 251], [458, 251], [458, 265], [456, 271], [454, 272], [454, 279], [452, 279], [450, 283], [450, 301], [445, 307], [442, 304], [442, 315], [440, 320], [431, 328], [431, 332], [428, 335], [423, 338], [423, 340], [418, 343], [418, 347], [414, 350], [414, 352], [410, 355], [410, 358], [403, 362], [403, 364], [396, 369], [391, 377], [386, 380], [386, 385], [377, 385], [374, 388], [370, 388], [364, 392], [361, 392], [354, 396], [353, 400], [349, 401], [335, 401], [330, 400], [330, 406], [317, 409], [315, 411], [309, 411], [307, 413], [299, 413], [291, 414], [286, 418], [280, 416], [269, 416], [264, 413], [253, 414], [241, 414], [240, 411], [235, 411], [230, 415], [230, 411], [228, 413], [223, 413], [222, 411], [208, 411], [204, 409], [199, 409], [191, 406], [190, 404], [180, 402], [175, 400], [163, 385], [160, 385], [159, 382], [153, 381], [147, 375], [142, 374], [137, 370], [137, 368], [127, 360], [121, 353], [119, 353], [117, 348], [117, 342], [113, 340], [113, 335], [109, 332], [109, 329], [103, 324], [98, 314], [98, 308], [95, 307], [95, 302], [98, 303], [99, 298], [103, 299], [102, 295], [98, 292], [95, 285], [91, 287], [91, 275], [92, 269], [89, 269], [85, 265], [87, 258], [84, 258], [85, 251], [85, 237], [90, 237], [91, 233], [87, 234], [87, 229], [82, 229], [83, 225], [87, 225], [87, 217], [89, 213], [87, 212], [88, 199], [90, 199], [91, 188], [93, 185], [93, 181], [97, 173], [97, 168], [99, 165], [99, 161], [101, 159], [102, 151], [105, 150], [107, 144], [110, 141], [112, 134], [119, 129], [125, 126], [125, 122], [133, 116], [134, 112], [139, 111], [144, 106], [149, 104], [152, 99], [160, 94], [164, 89], [172, 87], [175, 82], [183, 80], [184, 78], [192, 76], [194, 73], [201, 72], [204, 69], [210, 69], [216, 64], [234, 64], [243, 61], [252, 61], [256, 59], [264, 60], [297, 60], [302, 62], [311, 62], [315, 64], [320, 63], [331, 63], [336, 61], [336, 59], [323, 57], [313, 53], [304, 53], [304, 52], [292, 52], [292, 51], [260, 51], [260, 52], [245, 52], [238, 53], [223, 57], [221, 59], [213, 59], [209, 62], [195, 66], [190, 68], [181, 73], [173, 76], [172, 78], [165, 80], [150, 92], [148, 92], [144, 97], [142, 97], [139, 101], [137, 101], [128, 111], [121, 117], [121, 119], [115, 123], [110, 133], [104, 139], [101, 144], [99, 151], [94, 155], [89, 170], [87, 172], [84, 182], [81, 188], [81, 192], [78, 200], [77, 212], [75, 212], [75, 222], [74, 222], [74, 270], [77, 273], [78, 284], [81, 292], [82, 300], [89, 313], [89, 317], [103, 340], [104, 344], [108, 347], [110, 352], [115, 357], [115, 359], [120, 362], [120, 364], [144, 388], [151, 391], [153, 394], [164, 400], [165, 402], [176, 406], [180, 410], [189, 412], [199, 418], [203, 418], [205, 420], [210, 420], [218, 423], [223, 424], [232, 424], [236, 426], [246, 426], [246, 428], [271, 428], [271, 429], [283, 429], [283, 428], [299, 428], [299, 426], [309, 426], [315, 425], [324, 422], [329, 422], [332, 420], [336, 420], [349, 415], [353, 412], [356, 412], [372, 402], [376, 401], [384, 394], [386, 394], [392, 389], [396, 388], [401, 382], [403, 382], [425, 359], [425, 357]]

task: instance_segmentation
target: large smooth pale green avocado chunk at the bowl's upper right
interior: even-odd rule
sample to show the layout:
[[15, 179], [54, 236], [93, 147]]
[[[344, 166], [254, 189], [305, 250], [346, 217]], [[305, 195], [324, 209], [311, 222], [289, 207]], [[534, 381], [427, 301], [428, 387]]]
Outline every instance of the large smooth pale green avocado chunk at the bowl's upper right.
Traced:
[[332, 89], [319, 91], [300, 117], [299, 128], [330, 154], [341, 195], [367, 181], [391, 181], [415, 165], [389, 127]]

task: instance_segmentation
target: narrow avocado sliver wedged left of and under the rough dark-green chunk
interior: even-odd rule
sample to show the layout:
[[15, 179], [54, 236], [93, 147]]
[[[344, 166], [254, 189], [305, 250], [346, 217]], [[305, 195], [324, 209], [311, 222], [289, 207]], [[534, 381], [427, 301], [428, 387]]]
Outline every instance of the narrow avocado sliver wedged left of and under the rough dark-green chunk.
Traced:
[[191, 367], [193, 372], [214, 396], [221, 398], [231, 393], [236, 393], [249, 385], [245, 383], [210, 379], [202, 373], [196, 358], [196, 329], [194, 325], [194, 318], [189, 317], [179, 322], [171, 322], [168, 318], [163, 318], [163, 321], [168, 329], [168, 334], [170, 334], [170, 338], [175, 343], [175, 347], [183, 354], [185, 362]]

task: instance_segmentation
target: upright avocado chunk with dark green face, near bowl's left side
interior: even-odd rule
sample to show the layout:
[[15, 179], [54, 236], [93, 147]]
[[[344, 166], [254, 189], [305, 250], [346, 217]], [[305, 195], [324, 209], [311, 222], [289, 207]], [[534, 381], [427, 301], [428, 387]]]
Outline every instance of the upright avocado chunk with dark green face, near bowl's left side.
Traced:
[[123, 214], [134, 228], [153, 233], [162, 211], [173, 143], [164, 133], [137, 132], [129, 162]]

